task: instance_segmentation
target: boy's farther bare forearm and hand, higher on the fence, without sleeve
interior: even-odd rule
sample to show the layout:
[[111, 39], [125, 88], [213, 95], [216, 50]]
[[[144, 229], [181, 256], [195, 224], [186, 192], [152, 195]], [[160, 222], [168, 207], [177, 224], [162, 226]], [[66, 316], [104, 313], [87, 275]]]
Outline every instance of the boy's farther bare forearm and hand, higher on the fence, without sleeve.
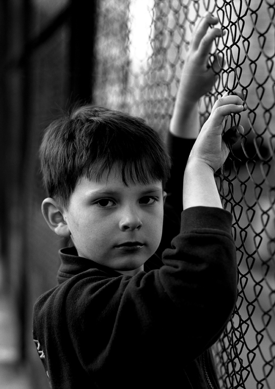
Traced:
[[170, 123], [170, 132], [180, 138], [196, 139], [200, 131], [198, 112], [199, 99], [213, 87], [220, 61], [215, 56], [212, 68], [209, 67], [209, 53], [215, 38], [221, 36], [218, 18], [207, 13], [194, 30], [193, 38], [184, 62], [179, 90]]

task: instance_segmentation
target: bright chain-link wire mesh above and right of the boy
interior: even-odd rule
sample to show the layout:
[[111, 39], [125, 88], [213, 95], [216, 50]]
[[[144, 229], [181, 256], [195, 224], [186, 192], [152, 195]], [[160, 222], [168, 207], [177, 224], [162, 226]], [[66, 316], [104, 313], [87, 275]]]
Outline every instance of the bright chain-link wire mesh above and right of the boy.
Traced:
[[190, 37], [206, 11], [224, 32], [213, 46], [223, 68], [201, 101], [202, 123], [225, 90], [242, 90], [248, 106], [228, 119], [245, 133], [217, 176], [238, 254], [238, 302], [216, 345], [220, 383], [274, 389], [275, 1], [100, 1], [94, 102], [141, 116], [165, 135]]

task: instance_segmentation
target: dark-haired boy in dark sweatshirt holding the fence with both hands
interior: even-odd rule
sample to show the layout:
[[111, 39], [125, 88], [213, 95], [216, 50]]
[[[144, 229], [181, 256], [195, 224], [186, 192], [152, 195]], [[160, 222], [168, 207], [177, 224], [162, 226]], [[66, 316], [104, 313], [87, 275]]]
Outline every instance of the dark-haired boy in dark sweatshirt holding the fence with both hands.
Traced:
[[[188, 66], [206, 66], [220, 36], [217, 29], [206, 34], [215, 23], [207, 15], [198, 26], [184, 66], [189, 75]], [[172, 148], [184, 137], [182, 124], [192, 133], [196, 127], [195, 99], [188, 109], [182, 104], [190, 91], [184, 69]], [[243, 109], [239, 95], [225, 94], [203, 125], [184, 173], [180, 232], [171, 216], [182, 207], [172, 169], [172, 229], [163, 238], [170, 161], [152, 129], [89, 106], [48, 128], [40, 155], [50, 197], [42, 212], [73, 242], [60, 250], [58, 286], [34, 309], [34, 340], [53, 389], [218, 387], [210, 347], [234, 308], [237, 274], [232, 218], [222, 210], [214, 172], [228, 154], [224, 117]]]

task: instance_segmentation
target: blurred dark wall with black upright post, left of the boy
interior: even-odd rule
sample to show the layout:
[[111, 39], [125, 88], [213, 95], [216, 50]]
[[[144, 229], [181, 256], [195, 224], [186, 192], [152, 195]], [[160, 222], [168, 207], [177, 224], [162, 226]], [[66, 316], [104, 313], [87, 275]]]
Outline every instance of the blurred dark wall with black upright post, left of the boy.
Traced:
[[63, 246], [41, 211], [37, 150], [62, 110], [92, 102], [96, 1], [0, 2], [0, 251], [34, 388], [49, 388], [32, 339], [37, 297], [56, 285]]

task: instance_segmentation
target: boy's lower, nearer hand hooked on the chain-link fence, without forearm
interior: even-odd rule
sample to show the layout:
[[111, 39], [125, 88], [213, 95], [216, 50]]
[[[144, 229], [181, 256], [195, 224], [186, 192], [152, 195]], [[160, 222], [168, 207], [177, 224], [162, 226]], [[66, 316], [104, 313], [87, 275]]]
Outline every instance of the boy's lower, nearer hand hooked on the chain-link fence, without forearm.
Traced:
[[[225, 93], [216, 101], [208, 120], [202, 126], [188, 162], [195, 160], [199, 163], [204, 163], [213, 169], [214, 172], [225, 162], [229, 154], [229, 148], [227, 141], [224, 140], [224, 119], [230, 114], [238, 114], [246, 109], [241, 92], [235, 91], [235, 93]], [[228, 141], [231, 144], [235, 143], [243, 134], [243, 131], [244, 129], [241, 125], [238, 128], [230, 128], [226, 134], [232, 133], [234, 135]]]

